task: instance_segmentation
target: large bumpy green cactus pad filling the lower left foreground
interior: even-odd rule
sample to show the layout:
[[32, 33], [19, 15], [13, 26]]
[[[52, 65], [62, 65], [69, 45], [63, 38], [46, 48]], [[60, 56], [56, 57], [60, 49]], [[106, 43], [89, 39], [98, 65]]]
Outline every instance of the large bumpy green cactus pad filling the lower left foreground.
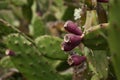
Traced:
[[64, 80], [23, 36], [11, 34], [6, 37], [6, 44], [15, 52], [11, 61], [28, 80]]

